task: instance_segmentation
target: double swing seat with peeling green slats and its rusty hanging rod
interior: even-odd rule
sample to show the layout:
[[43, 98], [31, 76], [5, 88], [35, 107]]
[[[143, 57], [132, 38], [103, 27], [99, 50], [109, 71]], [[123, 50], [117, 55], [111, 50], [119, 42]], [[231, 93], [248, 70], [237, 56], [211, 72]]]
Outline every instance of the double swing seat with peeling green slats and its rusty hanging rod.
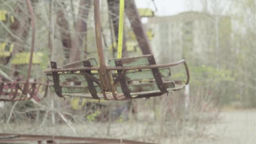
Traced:
[[[164, 93], [177, 91], [189, 83], [189, 69], [185, 60], [175, 63], [157, 65], [153, 55], [128, 57], [109, 60], [105, 65], [101, 40], [99, 0], [94, 0], [94, 21], [99, 67], [94, 58], [77, 61], [57, 67], [51, 61], [51, 69], [45, 69], [50, 90], [57, 96], [83, 97], [105, 100], [126, 100], [161, 96]], [[184, 64], [187, 81], [176, 86], [174, 81], [163, 81], [162, 77], [170, 77], [169, 67]], [[141, 82], [141, 83], [140, 83]]]

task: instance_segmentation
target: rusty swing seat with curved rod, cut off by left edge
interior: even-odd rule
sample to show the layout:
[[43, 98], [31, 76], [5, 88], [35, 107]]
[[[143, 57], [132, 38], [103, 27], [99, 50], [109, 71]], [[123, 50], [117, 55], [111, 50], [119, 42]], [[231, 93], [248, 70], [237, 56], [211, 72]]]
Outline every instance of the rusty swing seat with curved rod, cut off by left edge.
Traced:
[[10, 77], [8, 77], [8, 75], [0, 70], [0, 101], [24, 101], [32, 98], [36, 101], [40, 101], [40, 99], [38, 98], [40, 86], [45, 85], [45, 93], [43, 97], [46, 96], [48, 91], [48, 83], [38, 83], [36, 80], [33, 80], [31, 82], [29, 80], [35, 45], [35, 18], [30, 0], [27, 0], [27, 5], [29, 8], [32, 22], [32, 42], [27, 78], [24, 81], [21, 81], [22, 77], [18, 77], [16, 78], [16, 80], [12, 80]]

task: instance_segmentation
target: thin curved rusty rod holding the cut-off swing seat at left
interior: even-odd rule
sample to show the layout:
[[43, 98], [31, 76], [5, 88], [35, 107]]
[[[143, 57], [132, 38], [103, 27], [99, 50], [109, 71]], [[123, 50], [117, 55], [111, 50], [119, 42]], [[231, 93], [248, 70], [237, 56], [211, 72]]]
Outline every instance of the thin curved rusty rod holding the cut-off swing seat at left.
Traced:
[[29, 57], [29, 68], [28, 68], [28, 72], [27, 72], [27, 80], [26, 80], [26, 83], [24, 85], [23, 94], [27, 94], [28, 87], [29, 87], [29, 77], [30, 77], [30, 73], [31, 73], [33, 53], [34, 53], [34, 45], [35, 45], [35, 17], [34, 17], [34, 12], [33, 12], [32, 4], [31, 4], [30, 0], [27, 0], [27, 5], [28, 5], [28, 8], [29, 8], [30, 16], [31, 16], [32, 40], [31, 40], [30, 57]]

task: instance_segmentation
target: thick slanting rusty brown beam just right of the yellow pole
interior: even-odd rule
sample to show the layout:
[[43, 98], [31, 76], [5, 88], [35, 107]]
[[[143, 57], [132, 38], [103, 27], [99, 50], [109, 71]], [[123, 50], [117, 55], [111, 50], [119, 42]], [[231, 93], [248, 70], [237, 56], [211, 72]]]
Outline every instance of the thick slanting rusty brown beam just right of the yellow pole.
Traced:
[[152, 48], [149, 44], [149, 40], [147, 38], [146, 32], [143, 29], [143, 25], [141, 23], [141, 17], [139, 16], [139, 11], [136, 8], [136, 4], [134, 0], [125, 0], [125, 13], [130, 20], [131, 27], [133, 29], [134, 34], [136, 35], [136, 39], [139, 43], [139, 47], [144, 55], [152, 54]]

